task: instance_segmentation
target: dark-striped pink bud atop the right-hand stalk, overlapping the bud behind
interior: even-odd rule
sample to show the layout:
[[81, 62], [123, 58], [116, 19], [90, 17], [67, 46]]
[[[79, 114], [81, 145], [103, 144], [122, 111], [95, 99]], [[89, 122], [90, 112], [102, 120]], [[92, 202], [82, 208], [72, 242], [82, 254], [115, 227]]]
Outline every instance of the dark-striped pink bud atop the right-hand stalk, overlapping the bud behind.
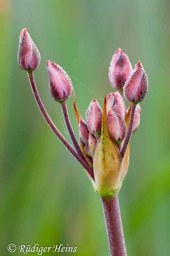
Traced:
[[148, 93], [148, 77], [139, 61], [131, 76], [127, 79], [124, 86], [124, 95], [130, 102], [138, 103], [145, 99]]

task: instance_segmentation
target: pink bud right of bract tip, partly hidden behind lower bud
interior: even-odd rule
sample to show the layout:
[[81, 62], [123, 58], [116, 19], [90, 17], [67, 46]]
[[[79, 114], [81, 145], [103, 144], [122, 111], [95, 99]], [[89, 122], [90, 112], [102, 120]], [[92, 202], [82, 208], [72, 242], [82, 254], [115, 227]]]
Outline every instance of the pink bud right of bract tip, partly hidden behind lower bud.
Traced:
[[113, 110], [125, 120], [125, 102], [123, 97], [118, 92], [111, 92], [107, 97], [107, 112]]

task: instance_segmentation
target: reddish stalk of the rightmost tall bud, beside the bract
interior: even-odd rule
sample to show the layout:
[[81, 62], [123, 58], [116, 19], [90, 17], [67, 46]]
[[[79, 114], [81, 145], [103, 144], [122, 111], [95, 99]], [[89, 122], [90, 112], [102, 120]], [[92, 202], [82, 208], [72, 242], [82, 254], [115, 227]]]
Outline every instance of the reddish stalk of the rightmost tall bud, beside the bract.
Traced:
[[131, 103], [131, 116], [130, 116], [130, 121], [129, 121], [129, 127], [128, 127], [128, 131], [127, 131], [127, 134], [125, 137], [124, 145], [121, 150], [122, 158], [124, 157], [125, 150], [127, 150], [127, 146], [129, 144], [129, 141], [131, 140], [132, 129], [133, 129], [133, 124], [134, 124], [134, 113], [135, 113], [136, 106], [137, 106], [136, 104]]

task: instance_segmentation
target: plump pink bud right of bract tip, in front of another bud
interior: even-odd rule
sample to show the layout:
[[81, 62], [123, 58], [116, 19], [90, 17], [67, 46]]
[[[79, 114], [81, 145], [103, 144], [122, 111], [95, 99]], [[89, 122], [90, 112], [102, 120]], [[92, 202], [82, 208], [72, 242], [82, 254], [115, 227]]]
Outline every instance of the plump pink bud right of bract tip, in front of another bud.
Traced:
[[111, 110], [107, 115], [107, 123], [108, 123], [108, 132], [112, 140], [114, 140], [117, 144], [119, 144], [125, 137], [126, 134], [126, 124], [118, 113]]

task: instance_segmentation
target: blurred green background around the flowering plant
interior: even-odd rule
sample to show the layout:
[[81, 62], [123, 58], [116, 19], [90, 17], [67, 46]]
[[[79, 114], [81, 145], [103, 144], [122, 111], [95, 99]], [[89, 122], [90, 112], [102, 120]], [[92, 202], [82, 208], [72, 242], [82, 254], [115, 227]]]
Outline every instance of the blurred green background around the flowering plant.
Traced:
[[[35, 72], [41, 99], [69, 141], [60, 106], [48, 91], [46, 60], [64, 67], [71, 77], [83, 117], [92, 98], [103, 105], [104, 95], [113, 91], [108, 66], [118, 47], [133, 67], [143, 63], [149, 92], [132, 137], [120, 209], [128, 255], [170, 254], [169, 8], [167, 0], [0, 1], [1, 255], [10, 255], [9, 243], [63, 243], [77, 246], [75, 255], [109, 255], [99, 196], [46, 125], [27, 74], [18, 67], [22, 28], [41, 52]], [[78, 134], [72, 100], [69, 114]]]

